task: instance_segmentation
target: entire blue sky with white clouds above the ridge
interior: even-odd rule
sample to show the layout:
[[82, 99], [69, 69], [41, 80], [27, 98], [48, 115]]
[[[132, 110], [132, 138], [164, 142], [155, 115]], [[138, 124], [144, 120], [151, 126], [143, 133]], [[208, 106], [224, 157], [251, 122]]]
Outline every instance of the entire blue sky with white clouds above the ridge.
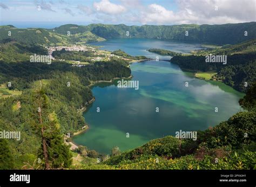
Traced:
[[256, 0], [0, 0], [0, 25], [55, 27], [256, 21]]

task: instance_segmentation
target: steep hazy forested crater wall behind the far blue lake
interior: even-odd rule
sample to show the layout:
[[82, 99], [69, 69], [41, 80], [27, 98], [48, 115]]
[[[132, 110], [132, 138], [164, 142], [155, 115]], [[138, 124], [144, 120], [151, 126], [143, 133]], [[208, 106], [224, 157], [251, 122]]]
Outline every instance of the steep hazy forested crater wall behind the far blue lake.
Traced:
[[[171, 26], [126, 26], [90, 24], [87, 26], [63, 25], [54, 28], [59, 34], [91, 33], [105, 38], [158, 38], [178, 41], [194, 41], [211, 44], [238, 44], [256, 38], [256, 23], [224, 24], [224, 25], [171, 25]], [[186, 35], [187, 31], [187, 35]], [[245, 32], [247, 31], [247, 34]], [[247, 35], [247, 36], [245, 36]]]

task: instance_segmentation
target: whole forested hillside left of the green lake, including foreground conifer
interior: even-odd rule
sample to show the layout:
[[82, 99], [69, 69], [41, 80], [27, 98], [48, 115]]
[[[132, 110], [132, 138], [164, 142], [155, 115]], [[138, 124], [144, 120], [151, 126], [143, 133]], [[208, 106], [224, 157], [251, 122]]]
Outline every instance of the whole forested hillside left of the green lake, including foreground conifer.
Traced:
[[[122, 60], [96, 62], [85, 67], [72, 67], [64, 62], [48, 65], [1, 61], [0, 84], [10, 82], [8, 89], [21, 90], [22, 94], [0, 98], [0, 128], [20, 131], [22, 141], [0, 140], [0, 144], [4, 145], [0, 147], [1, 159], [5, 163], [0, 164], [0, 169], [48, 168], [40, 148], [43, 146], [41, 127], [47, 140], [49, 167], [70, 167], [71, 153], [63, 144], [63, 134], [72, 134], [85, 125], [82, 112], [78, 109], [93, 99], [88, 85], [93, 81], [129, 77], [130, 74], [127, 62]], [[42, 109], [42, 118], [38, 116], [38, 107]], [[33, 166], [37, 158], [42, 162]]]

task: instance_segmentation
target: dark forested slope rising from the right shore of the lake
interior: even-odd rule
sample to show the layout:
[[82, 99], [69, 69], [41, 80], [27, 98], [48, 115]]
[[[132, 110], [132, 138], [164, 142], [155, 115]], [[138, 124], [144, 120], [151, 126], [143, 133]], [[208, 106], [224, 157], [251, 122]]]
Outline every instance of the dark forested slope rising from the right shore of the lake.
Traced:
[[[186, 70], [215, 71], [211, 79], [223, 81], [234, 89], [246, 92], [256, 81], [256, 40], [217, 49], [199, 50], [192, 55], [173, 56], [172, 63]], [[207, 55], [227, 55], [227, 63], [206, 63]], [[245, 86], [246, 85], [246, 86]]]

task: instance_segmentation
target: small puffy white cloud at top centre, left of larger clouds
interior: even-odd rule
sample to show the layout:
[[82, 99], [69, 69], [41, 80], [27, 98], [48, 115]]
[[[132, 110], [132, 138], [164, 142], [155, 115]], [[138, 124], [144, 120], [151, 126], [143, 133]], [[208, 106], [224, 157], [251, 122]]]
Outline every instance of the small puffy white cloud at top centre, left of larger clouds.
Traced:
[[126, 11], [125, 6], [111, 3], [109, 0], [102, 0], [98, 3], [93, 3], [93, 7], [107, 15], [117, 15]]

